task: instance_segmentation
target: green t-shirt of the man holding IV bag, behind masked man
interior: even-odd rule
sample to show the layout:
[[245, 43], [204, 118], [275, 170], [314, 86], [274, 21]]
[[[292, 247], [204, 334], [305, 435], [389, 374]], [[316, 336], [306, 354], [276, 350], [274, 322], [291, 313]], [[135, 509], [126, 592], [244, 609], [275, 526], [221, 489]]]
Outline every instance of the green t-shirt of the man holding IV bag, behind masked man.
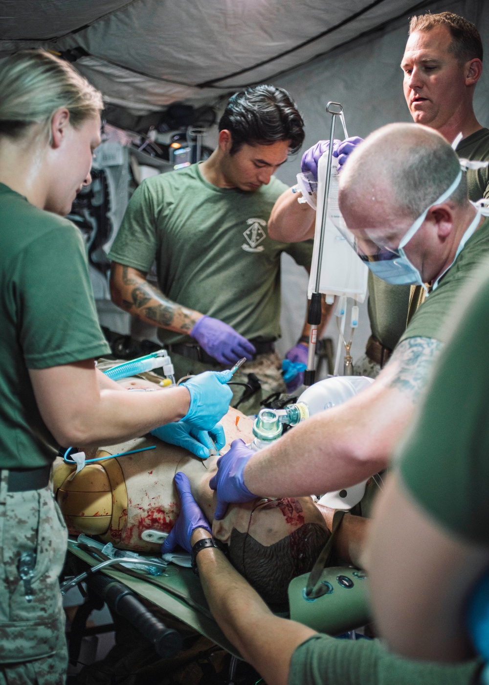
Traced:
[[[489, 160], [489, 129], [483, 128], [460, 142], [457, 155], [467, 160]], [[468, 197], [489, 197], [488, 169], [467, 171]], [[392, 286], [368, 273], [368, 319], [372, 333], [384, 347], [394, 349], [408, 321], [411, 286]]]

